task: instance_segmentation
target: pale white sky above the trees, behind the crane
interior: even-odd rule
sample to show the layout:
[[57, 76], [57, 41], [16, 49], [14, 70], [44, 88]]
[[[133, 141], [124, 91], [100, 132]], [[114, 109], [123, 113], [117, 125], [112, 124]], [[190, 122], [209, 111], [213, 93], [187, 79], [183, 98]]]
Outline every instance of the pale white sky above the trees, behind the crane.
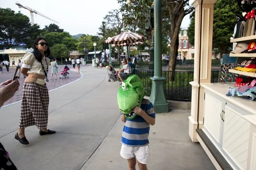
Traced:
[[[57, 24], [34, 14], [34, 23], [40, 25], [41, 29], [54, 23], [71, 35], [96, 35], [104, 16], [112, 9], [119, 8], [117, 0], [0, 0], [0, 7], [11, 8], [15, 12], [20, 11], [30, 18], [30, 12], [18, 8], [16, 2], [59, 22]], [[181, 23], [182, 28], [188, 26], [189, 15], [185, 16]]]

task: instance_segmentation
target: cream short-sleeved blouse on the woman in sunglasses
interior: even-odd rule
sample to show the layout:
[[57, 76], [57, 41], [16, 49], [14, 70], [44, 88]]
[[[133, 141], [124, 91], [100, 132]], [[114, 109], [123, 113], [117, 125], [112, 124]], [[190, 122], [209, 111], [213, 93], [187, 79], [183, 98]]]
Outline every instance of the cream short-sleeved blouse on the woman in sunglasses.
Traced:
[[[47, 62], [47, 63], [46, 63]], [[44, 70], [46, 71], [47, 65], [50, 65], [50, 59], [48, 57], [42, 58], [42, 64], [44, 65], [44, 70], [42, 69], [42, 65], [39, 61], [37, 61], [36, 57], [33, 53], [26, 53], [22, 58], [22, 67], [28, 69], [28, 74], [37, 73], [39, 75], [45, 75]], [[46, 65], [47, 64], [47, 65]], [[44, 85], [44, 80], [37, 79], [36, 83], [40, 85]]]

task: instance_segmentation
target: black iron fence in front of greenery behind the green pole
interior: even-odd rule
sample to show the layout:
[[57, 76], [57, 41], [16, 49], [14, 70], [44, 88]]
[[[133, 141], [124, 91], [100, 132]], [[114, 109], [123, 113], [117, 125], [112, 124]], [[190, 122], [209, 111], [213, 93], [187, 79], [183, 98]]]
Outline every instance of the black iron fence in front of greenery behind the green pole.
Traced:
[[[135, 73], [141, 78], [145, 90], [150, 94], [152, 88], [150, 77], [154, 76], [154, 71], [136, 69]], [[173, 80], [170, 79], [171, 75], [174, 77]], [[212, 71], [212, 83], [218, 82], [218, 75], [219, 71]], [[162, 71], [162, 77], [166, 78], [163, 86], [167, 100], [191, 101], [192, 87], [189, 82], [194, 81], [194, 71]]]

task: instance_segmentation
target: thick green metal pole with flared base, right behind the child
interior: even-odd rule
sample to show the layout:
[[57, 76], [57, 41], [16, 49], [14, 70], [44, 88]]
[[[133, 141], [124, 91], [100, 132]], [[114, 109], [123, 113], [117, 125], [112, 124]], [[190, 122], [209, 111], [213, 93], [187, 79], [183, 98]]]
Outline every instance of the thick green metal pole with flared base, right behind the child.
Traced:
[[169, 111], [168, 103], [165, 99], [165, 89], [163, 89], [163, 82], [166, 78], [161, 77], [161, 8], [161, 0], [154, 0], [154, 77], [150, 77], [152, 91], [149, 100], [154, 106], [155, 113]]

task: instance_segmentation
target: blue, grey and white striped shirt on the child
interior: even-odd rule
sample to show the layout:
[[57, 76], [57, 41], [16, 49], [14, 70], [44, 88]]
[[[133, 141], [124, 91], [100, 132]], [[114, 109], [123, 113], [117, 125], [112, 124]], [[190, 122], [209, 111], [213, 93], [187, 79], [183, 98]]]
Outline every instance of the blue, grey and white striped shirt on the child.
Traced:
[[[148, 99], [143, 99], [141, 109], [150, 117], [155, 118], [155, 110]], [[134, 119], [127, 119], [123, 127], [122, 142], [129, 146], [144, 146], [149, 143], [149, 123], [137, 115]]]

